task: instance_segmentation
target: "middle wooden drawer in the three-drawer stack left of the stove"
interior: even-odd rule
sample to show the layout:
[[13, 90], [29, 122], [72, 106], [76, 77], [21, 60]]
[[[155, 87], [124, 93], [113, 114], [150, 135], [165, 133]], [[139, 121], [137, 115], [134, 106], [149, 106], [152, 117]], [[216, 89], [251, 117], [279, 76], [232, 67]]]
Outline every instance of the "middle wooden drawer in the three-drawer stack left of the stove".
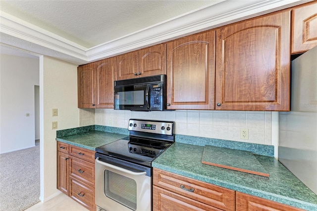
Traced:
[[95, 164], [70, 157], [69, 173], [71, 177], [95, 187]]

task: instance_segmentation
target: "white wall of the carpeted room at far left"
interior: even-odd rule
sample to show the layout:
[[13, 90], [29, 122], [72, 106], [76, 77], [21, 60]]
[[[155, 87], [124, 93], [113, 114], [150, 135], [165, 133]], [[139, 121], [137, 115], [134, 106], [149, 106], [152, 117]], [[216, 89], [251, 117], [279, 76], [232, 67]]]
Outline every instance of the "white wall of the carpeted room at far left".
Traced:
[[34, 85], [39, 85], [39, 59], [1, 54], [0, 64], [0, 153], [6, 153], [35, 145]]

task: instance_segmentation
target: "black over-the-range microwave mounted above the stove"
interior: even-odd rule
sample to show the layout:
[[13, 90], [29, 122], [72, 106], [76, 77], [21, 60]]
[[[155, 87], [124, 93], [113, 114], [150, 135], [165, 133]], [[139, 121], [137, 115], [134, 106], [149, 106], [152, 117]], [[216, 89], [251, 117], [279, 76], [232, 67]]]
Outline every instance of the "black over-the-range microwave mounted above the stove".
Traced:
[[114, 81], [114, 109], [163, 111], [166, 109], [166, 75]]

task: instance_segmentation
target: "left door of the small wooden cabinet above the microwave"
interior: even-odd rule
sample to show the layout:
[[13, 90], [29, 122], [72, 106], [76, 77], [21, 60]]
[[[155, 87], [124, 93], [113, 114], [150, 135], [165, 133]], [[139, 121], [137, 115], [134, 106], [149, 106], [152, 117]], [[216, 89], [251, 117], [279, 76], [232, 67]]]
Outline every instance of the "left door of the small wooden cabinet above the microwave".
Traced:
[[116, 57], [117, 80], [138, 77], [138, 52], [122, 54]]

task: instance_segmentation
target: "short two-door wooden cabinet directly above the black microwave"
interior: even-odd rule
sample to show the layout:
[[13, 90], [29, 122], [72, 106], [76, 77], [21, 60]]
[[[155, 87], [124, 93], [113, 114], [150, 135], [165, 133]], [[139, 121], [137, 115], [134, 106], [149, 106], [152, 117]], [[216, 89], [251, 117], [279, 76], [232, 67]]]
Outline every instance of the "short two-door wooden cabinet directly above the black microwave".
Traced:
[[158, 74], [166, 74], [165, 44], [117, 56], [118, 80]]

